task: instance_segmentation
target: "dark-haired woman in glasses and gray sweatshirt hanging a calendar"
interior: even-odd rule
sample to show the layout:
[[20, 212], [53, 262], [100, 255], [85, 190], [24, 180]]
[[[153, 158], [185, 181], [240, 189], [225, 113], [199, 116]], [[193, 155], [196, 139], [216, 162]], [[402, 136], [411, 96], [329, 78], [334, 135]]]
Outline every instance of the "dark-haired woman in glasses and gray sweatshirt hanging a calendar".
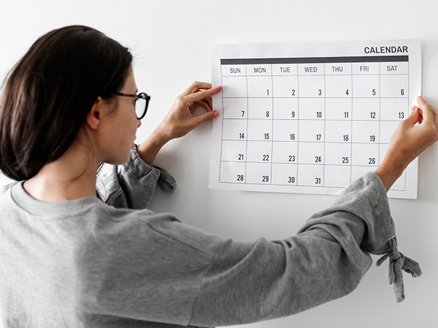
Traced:
[[[284, 241], [239, 243], [145, 209], [151, 166], [170, 139], [216, 117], [220, 87], [193, 83], [142, 145], [133, 141], [149, 96], [131, 55], [90, 27], [38, 39], [5, 84], [0, 194], [0, 323], [5, 327], [231, 325], [294, 314], [351, 292], [371, 264], [396, 249], [386, 191], [438, 139], [438, 113], [418, 98], [375, 173]], [[195, 107], [206, 112], [191, 115]], [[420, 123], [420, 124], [417, 124]], [[415, 125], [417, 124], [417, 125]], [[101, 163], [109, 163], [99, 174]], [[118, 166], [115, 166], [118, 165]], [[96, 182], [98, 189], [96, 191]], [[104, 202], [99, 200], [101, 198]]]

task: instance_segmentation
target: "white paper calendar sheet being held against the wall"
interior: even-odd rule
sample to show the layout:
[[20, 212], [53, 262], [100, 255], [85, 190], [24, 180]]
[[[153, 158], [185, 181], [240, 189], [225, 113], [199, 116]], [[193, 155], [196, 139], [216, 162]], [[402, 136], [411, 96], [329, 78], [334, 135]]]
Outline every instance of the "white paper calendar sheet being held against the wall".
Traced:
[[[385, 156], [421, 94], [418, 40], [210, 47], [209, 187], [339, 194]], [[417, 160], [389, 197], [417, 197]]]

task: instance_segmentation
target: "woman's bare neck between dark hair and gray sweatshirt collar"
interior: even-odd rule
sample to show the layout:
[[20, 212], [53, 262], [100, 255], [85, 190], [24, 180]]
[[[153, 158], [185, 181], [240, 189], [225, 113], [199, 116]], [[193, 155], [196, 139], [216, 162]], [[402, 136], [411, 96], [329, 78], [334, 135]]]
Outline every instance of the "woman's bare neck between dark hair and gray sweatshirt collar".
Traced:
[[42, 202], [62, 202], [96, 196], [99, 162], [86, 143], [75, 140], [62, 156], [44, 165], [23, 187]]

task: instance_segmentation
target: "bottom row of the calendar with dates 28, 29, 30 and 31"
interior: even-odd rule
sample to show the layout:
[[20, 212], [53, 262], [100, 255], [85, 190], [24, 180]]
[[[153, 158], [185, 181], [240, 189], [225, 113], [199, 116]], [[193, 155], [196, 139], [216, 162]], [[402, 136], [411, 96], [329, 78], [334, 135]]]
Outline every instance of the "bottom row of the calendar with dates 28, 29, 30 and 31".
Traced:
[[[371, 169], [374, 170], [374, 169]], [[285, 165], [263, 163], [220, 164], [220, 182], [237, 184], [274, 184], [301, 187], [344, 188], [360, 178], [370, 167], [339, 165]], [[391, 190], [406, 189], [406, 172], [391, 187]]]

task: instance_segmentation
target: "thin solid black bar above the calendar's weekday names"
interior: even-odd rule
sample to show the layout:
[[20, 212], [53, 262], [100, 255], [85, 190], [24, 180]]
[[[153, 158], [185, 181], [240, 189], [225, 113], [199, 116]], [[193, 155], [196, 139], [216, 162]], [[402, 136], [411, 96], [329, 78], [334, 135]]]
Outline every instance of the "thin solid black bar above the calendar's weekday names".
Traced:
[[314, 64], [314, 63], [371, 63], [382, 61], [409, 61], [403, 56], [359, 56], [359, 57], [304, 57], [304, 58], [236, 58], [220, 59], [221, 65], [245, 64]]

